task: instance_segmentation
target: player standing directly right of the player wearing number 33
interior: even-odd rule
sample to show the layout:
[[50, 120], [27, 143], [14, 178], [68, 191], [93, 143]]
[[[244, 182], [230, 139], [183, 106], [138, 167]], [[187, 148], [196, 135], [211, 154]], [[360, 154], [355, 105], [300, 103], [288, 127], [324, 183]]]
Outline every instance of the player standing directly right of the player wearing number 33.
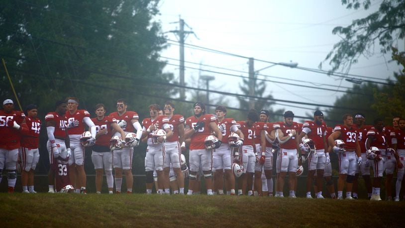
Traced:
[[[358, 137], [357, 140], [359, 141], [360, 151], [361, 151], [361, 158], [362, 163], [360, 164], [358, 171], [361, 171], [361, 175], [363, 176], [364, 183], [366, 185], [367, 196], [368, 199], [371, 199], [372, 195], [372, 186], [371, 186], [371, 178], [370, 178], [370, 162], [366, 157], [366, 139], [367, 139], [367, 132], [372, 127], [372, 125], [366, 125], [366, 117], [364, 114], [357, 113], [354, 115], [356, 120], [355, 126], [357, 127]], [[358, 199], [357, 189], [358, 189], [358, 176], [359, 173], [356, 173], [355, 179], [353, 181], [353, 198]]]

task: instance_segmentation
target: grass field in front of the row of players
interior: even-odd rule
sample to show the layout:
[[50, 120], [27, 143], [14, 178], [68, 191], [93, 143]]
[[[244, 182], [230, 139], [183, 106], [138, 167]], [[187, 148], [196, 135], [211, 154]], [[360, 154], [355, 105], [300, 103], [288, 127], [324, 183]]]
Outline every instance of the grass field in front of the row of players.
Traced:
[[405, 202], [248, 196], [0, 194], [1, 227], [403, 227]]

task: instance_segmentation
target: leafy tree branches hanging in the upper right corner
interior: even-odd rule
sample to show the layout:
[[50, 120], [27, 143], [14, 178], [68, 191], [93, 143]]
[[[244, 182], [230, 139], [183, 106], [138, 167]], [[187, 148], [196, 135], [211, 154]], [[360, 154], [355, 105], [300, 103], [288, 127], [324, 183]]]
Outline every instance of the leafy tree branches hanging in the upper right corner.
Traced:
[[[368, 9], [371, 0], [342, 0], [342, 4], [349, 9], [361, 6]], [[375, 41], [381, 45], [380, 52], [386, 53], [396, 40], [405, 36], [405, 0], [383, 0], [378, 11], [353, 20], [347, 27], [337, 26], [332, 33], [341, 36], [342, 40], [333, 46], [324, 60], [332, 65], [330, 72], [350, 69], [361, 55], [372, 56]]]

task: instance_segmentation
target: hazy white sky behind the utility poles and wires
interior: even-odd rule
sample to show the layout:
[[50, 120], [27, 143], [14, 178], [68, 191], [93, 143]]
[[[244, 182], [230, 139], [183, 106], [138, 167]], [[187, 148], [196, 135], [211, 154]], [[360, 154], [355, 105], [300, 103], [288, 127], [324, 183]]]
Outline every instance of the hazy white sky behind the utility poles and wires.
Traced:
[[[369, 10], [349, 10], [340, 0], [161, 0], [159, 9], [161, 15], [157, 18], [162, 23], [163, 32], [179, 28], [179, 16], [188, 26], [185, 30], [194, 31], [197, 35], [189, 35], [187, 44], [233, 53], [240, 56], [253, 57], [255, 70], [271, 64], [260, 62], [297, 62], [301, 67], [317, 69], [327, 53], [340, 38], [332, 34], [336, 26], [346, 26], [353, 19], [362, 18], [375, 11], [381, 0], [372, 1]], [[166, 33], [167, 38], [177, 40], [173, 33]], [[174, 42], [169, 42], [174, 43]], [[399, 41], [400, 50], [404, 50], [404, 40]], [[163, 57], [170, 64], [178, 65], [179, 46], [171, 45], [162, 52]], [[241, 78], [229, 75], [200, 72], [198, 63], [204, 65], [231, 69], [224, 70], [215, 67], [201, 66], [204, 70], [224, 72], [248, 77], [248, 60], [218, 53], [206, 52], [198, 49], [185, 48], [186, 63], [185, 81], [188, 86], [198, 87], [199, 75], [212, 75], [210, 89], [241, 94], [239, 84]], [[369, 59], [362, 57], [359, 63], [352, 66], [350, 74], [388, 78], [400, 67], [391, 60], [391, 55], [380, 54], [378, 45], [375, 55]], [[197, 63], [197, 64], [193, 64]], [[193, 67], [197, 69], [188, 69]], [[329, 70], [328, 63], [323, 63], [324, 70]], [[178, 78], [179, 68], [168, 65], [165, 72], [173, 72]], [[329, 77], [324, 74], [274, 66], [263, 70], [259, 78], [282, 83], [293, 83], [312, 87], [323, 87], [332, 90], [346, 90], [352, 83], [339, 77]], [[378, 80], [376, 80], [378, 81]], [[308, 83], [303, 83], [308, 82]], [[200, 82], [201, 83], [201, 82]], [[343, 88], [325, 86], [336, 85]], [[336, 91], [310, 89], [286, 84], [266, 82], [267, 94], [275, 99], [291, 100], [314, 104], [333, 105], [336, 98], [344, 96]], [[205, 88], [204, 84], [200, 85]], [[267, 95], [266, 94], [266, 95]], [[186, 94], [190, 99], [190, 94]], [[210, 103], [220, 95], [210, 94]], [[234, 106], [235, 98], [226, 97]], [[218, 104], [219, 105], [219, 104]], [[289, 106], [287, 106], [289, 105]], [[295, 107], [291, 107], [295, 106]], [[285, 108], [296, 115], [313, 113], [314, 106], [279, 103], [273, 109]], [[325, 110], [323, 108], [322, 110]]]

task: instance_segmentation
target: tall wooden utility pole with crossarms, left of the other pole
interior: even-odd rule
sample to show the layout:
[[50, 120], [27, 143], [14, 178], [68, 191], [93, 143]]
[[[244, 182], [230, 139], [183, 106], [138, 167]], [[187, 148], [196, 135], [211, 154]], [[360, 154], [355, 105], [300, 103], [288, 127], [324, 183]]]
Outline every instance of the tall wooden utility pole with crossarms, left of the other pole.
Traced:
[[180, 99], [181, 100], [184, 100], [186, 98], [185, 91], [184, 91], [184, 86], [185, 86], [185, 83], [184, 83], [184, 41], [188, 34], [191, 34], [191, 33], [194, 34], [193, 31], [184, 30], [185, 24], [186, 23], [184, 22], [184, 20], [182, 18], [179, 18], [180, 29], [169, 31], [169, 32], [173, 32], [176, 35], [176, 37], [180, 43], [180, 74], [179, 74], [179, 77], [180, 77], [180, 86], [181, 86], [181, 88], [180, 88]]

